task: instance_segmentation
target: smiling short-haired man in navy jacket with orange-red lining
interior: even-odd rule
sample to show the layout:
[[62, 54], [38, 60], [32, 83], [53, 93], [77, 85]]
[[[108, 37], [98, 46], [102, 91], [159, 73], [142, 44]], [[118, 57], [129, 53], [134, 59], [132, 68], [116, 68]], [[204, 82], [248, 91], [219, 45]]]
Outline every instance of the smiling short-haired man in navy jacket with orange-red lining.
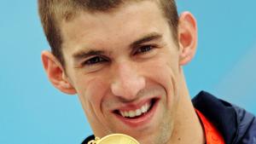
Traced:
[[[256, 143], [250, 113], [201, 92], [190, 100], [183, 66], [197, 26], [174, 0], [38, 0], [52, 51], [50, 82], [78, 94], [95, 136], [141, 144]], [[87, 143], [90, 136], [84, 141]]]

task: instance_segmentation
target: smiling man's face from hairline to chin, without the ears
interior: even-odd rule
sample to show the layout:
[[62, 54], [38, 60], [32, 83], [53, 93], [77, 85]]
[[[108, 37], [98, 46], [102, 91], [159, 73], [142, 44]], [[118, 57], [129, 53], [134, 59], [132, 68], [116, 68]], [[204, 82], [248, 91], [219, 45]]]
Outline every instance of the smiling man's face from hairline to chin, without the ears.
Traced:
[[96, 136], [141, 143], [172, 135], [181, 75], [179, 51], [158, 5], [128, 3], [61, 24], [67, 78]]

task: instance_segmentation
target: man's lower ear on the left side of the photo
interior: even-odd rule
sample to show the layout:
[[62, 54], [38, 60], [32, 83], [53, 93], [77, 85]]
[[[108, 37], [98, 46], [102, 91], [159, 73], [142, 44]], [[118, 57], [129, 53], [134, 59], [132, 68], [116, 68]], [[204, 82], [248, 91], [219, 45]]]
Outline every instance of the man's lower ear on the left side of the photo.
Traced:
[[62, 92], [69, 95], [76, 94], [77, 92], [73, 88], [73, 85], [68, 81], [64, 68], [61, 66], [59, 60], [57, 60], [49, 51], [43, 51], [41, 57], [44, 70], [49, 81], [55, 88], [60, 89]]

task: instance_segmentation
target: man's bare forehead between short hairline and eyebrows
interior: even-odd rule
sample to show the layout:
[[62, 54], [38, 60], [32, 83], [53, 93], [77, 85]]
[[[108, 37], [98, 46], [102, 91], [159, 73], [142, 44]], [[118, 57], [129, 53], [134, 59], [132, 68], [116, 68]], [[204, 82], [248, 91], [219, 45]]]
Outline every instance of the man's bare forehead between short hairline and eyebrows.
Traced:
[[[61, 23], [63, 48], [124, 46], [152, 32], [166, 31], [168, 23], [157, 3], [126, 3], [111, 12], [83, 12]], [[83, 46], [81, 45], [83, 44]]]

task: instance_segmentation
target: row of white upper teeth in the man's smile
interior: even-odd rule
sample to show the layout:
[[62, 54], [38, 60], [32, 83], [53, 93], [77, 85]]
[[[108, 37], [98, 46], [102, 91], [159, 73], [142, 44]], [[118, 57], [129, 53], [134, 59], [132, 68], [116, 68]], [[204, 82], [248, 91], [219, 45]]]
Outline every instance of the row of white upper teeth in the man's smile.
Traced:
[[141, 107], [137, 110], [134, 110], [134, 111], [129, 111], [129, 112], [119, 111], [119, 112], [121, 113], [121, 115], [123, 117], [133, 118], [133, 117], [136, 117], [136, 116], [140, 116], [145, 112], [148, 112], [149, 107], [150, 107], [150, 103], [147, 103], [147, 104], [143, 105], [143, 107]]

